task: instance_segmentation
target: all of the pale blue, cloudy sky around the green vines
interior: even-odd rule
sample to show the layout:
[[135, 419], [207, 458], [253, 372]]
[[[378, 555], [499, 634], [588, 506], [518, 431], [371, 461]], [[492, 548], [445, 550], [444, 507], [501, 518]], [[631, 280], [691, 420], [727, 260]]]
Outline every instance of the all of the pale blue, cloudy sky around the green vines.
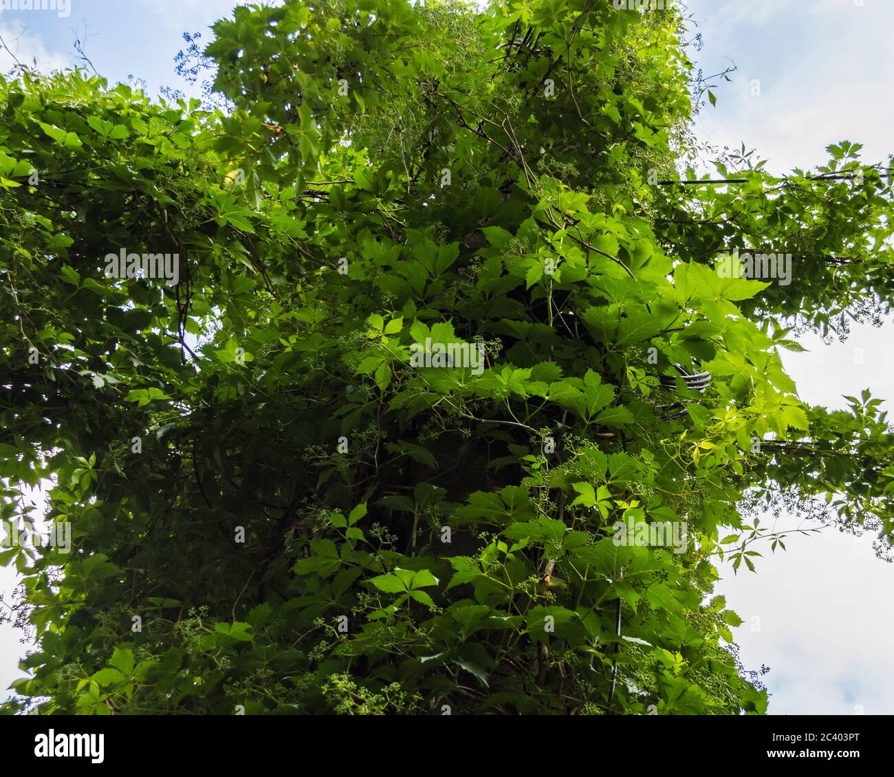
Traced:
[[[76, 61], [72, 43], [85, 41], [97, 71], [109, 80], [147, 82], [198, 97], [173, 71], [186, 46], [184, 31], [202, 32], [227, 16], [233, 0], [69, 0], [71, 13], [0, 11], [0, 35], [22, 61], [43, 70]], [[734, 61], [732, 83], [716, 89], [716, 107], [696, 118], [696, 135], [716, 146], [757, 148], [769, 169], [784, 173], [826, 160], [842, 139], [864, 144], [864, 158], [894, 152], [894, 30], [891, 0], [689, 0], [704, 39], [693, 52], [705, 75]], [[11, 64], [0, 53], [0, 70]], [[754, 80], [760, 81], [755, 95]], [[848, 342], [802, 340], [806, 353], [787, 353], [786, 366], [803, 400], [842, 407], [842, 394], [870, 388], [894, 400], [891, 323], [852, 328]], [[857, 359], [862, 349], [862, 360]], [[794, 528], [788, 517], [777, 528]], [[749, 668], [772, 671], [771, 714], [894, 714], [894, 565], [878, 561], [872, 537], [834, 530], [794, 536], [788, 552], [758, 560], [758, 574], [721, 568], [719, 592], [744, 619], [735, 630]], [[0, 570], [0, 591], [13, 577]], [[756, 620], [755, 620], [756, 619]], [[759, 630], [755, 627], [759, 626]], [[0, 688], [21, 676], [18, 633], [0, 627]]]

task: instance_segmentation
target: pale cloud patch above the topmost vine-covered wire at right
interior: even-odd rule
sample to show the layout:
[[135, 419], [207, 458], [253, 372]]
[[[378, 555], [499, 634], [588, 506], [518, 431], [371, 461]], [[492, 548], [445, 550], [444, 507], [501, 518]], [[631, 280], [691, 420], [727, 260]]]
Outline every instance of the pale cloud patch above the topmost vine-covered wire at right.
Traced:
[[[738, 64], [733, 83], [714, 90], [718, 106], [702, 111], [697, 129], [714, 144], [756, 147], [775, 173], [826, 161], [825, 147], [842, 139], [864, 143], [865, 160], [883, 160], [894, 151], [888, 131], [894, 105], [881, 86], [894, 80], [888, 40], [894, 4], [869, 2], [854, 7], [852, 0], [829, 0], [812, 7], [813, 17], [803, 6], [780, 3], [780, 13], [789, 13], [772, 30], [754, 29], [741, 9], [730, 15], [729, 4], [693, 3], [696, 18], [706, 20], [699, 64], [710, 62], [706, 73], [721, 70], [728, 63], [723, 56]], [[834, 19], [818, 18], [825, 6]], [[733, 18], [743, 21], [733, 24]], [[751, 93], [753, 79], [761, 81], [759, 97]]]

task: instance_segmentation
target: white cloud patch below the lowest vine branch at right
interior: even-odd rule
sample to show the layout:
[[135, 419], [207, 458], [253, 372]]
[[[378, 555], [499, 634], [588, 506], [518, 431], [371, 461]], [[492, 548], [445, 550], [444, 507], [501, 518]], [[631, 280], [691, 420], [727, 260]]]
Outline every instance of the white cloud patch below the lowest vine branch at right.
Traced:
[[[776, 528], [796, 526], [783, 516]], [[855, 714], [857, 705], [894, 714], [894, 678], [879, 671], [894, 655], [883, 615], [894, 567], [875, 558], [872, 540], [827, 528], [790, 536], [786, 552], [759, 548], [757, 574], [721, 568], [718, 591], [745, 621], [734, 629], [741, 659], [771, 668], [771, 714]]]

